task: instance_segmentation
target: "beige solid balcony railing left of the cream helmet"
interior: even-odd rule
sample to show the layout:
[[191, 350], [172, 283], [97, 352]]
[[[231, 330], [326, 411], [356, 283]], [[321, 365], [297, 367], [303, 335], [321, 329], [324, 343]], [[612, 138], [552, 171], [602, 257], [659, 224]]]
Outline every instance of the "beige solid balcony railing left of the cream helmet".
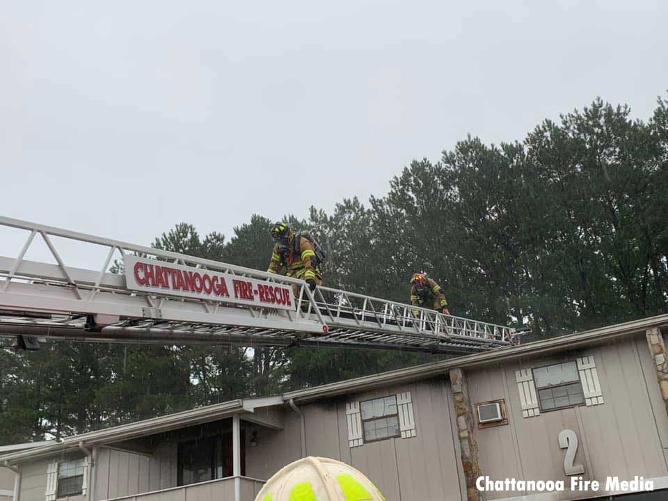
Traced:
[[250, 477], [238, 477], [240, 497], [234, 498], [234, 478], [225, 477], [199, 484], [171, 487], [161, 491], [150, 491], [104, 501], [253, 501], [264, 485], [264, 480]]

